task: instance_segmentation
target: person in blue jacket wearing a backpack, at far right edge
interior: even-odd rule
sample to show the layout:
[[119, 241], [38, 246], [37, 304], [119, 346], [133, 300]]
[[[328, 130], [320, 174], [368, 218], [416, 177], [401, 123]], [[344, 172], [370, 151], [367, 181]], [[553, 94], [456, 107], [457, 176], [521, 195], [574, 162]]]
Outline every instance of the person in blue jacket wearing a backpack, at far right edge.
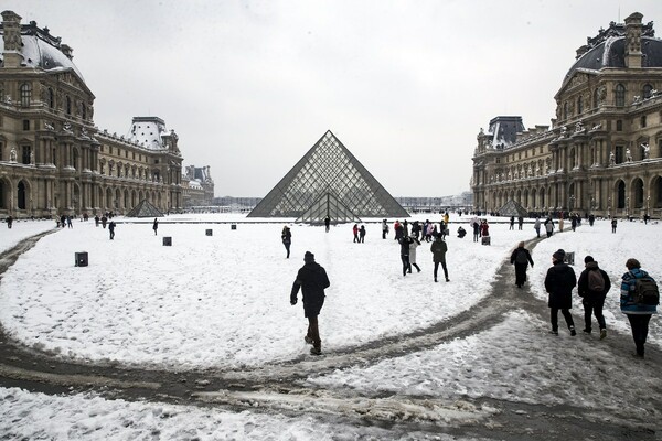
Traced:
[[643, 358], [648, 326], [651, 315], [658, 313], [660, 291], [655, 280], [641, 269], [639, 260], [628, 259], [626, 268], [628, 272], [623, 275], [621, 282], [621, 312], [628, 316], [632, 327], [632, 338], [637, 346], [637, 352], [632, 355]]

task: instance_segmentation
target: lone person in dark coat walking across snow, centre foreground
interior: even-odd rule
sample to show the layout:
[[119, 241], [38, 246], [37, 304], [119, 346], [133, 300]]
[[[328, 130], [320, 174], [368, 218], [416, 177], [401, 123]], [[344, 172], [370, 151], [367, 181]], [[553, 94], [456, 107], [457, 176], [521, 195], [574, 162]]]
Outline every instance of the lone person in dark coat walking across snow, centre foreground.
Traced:
[[310, 353], [312, 355], [322, 354], [322, 340], [318, 324], [318, 315], [324, 304], [324, 289], [329, 288], [329, 278], [327, 271], [314, 261], [314, 255], [306, 251], [303, 255], [303, 267], [297, 273], [297, 279], [292, 284], [290, 293], [290, 304], [297, 304], [297, 294], [301, 288], [303, 300], [303, 315], [308, 319], [308, 333], [303, 341], [312, 344]]

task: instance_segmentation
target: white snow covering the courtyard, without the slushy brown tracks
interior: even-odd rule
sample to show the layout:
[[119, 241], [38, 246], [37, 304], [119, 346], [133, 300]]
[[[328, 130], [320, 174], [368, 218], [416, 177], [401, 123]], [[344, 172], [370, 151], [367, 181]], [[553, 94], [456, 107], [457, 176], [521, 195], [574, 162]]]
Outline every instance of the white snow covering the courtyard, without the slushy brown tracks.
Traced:
[[[459, 239], [453, 234], [447, 256], [451, 281], [435, 283], [429, 244], [418, 248], [423, 272], [403, 277], [393, 235], [383, 240], [378, 224], [367, 224], [366, 243], [361, 245], [352, 244], [351, 225], [325, 234], [323, 227], [290, 224], [288, 260], [280, 243], [284, 224], [248, 223], [236, 215], [188, 216], [189, 224], [170, 224], [177, 219], [162, 219], [157, 237], [149, 222], [122, 223], [110, 241], [108, 232], [90, 222], [40, 240], [0, 284], [0, 320], [7, 333], [65, 358], [175, 369], [254, 367], [296, 358], [308, 349], [302, 342], [306, 321], [300, 303], [289, 304], [289, 291], [303, 252], [310, 250], [331, 280], [320, 330], [323, 351], [333, 354], [429, 326], [480, 302], [512, 248], [535, 235], [531, 224], [522, 232], [492, 224], [492, 245], [482, 246], [471, 236]], [[470, 232], [468, 220], [452, 216], [451, 233], [460, 222]], [[237, 229], [213, 222], [236, 222]], [[662, 280], [662, 261], [655, 258], [662, 225], [621, 223], [612, 235], [607, 220], [574, 233], [567, 224], [565, 233], [533, 250], [533, 294], [546, 299], [543, 280], [556, 249], [576, 252], [577, 276], [584, 256], [590, 254], [611, 276], [608, 330], [629, 335], [618, 309], [619, 279], [624, 261], [636, 257]], [[207, 228], [213, 236], [205, 236]], [[163, 236], [172, 237], [172, 247], [162, 246]], [[76, 268], [74, 252], [82, 250], [89, 252], [89, 267]], [[579, 302], [573, 314], [580, 330]], [[651, 321], [649, 351], [662, 344], [658, 316]], [[562, 332], [554, 337], [548, 327], [547, 321], [513, 304], [501, 323], [469, 337], [367, 367], [316, 374], [305, 384], [365, 395], [565, 404], [621, 418], [641, 411], [638, 406], [644, 407], [660, 387], [660, 378], [630, 375], [637, 361], [613, 354], [597, 335], [573, 338]], [[162, 439], [427, 437], [320, 423], [311, 417], [231, 413], [94, 395], [53, 397], [12, 388], [0, 389], [0, 438], [146, 439], [154, 431]], [[478, 413], [446, 418], [479, 418]], [[653, 413], [660, 417], [659, 410]]]

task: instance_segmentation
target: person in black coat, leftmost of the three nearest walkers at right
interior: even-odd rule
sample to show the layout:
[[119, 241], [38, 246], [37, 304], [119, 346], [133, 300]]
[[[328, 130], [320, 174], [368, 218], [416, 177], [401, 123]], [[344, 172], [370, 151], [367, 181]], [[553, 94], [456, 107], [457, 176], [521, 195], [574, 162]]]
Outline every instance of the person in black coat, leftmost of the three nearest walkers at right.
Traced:
[[570, 335], [577, 335], [575, 322], [570, 314], [573, 308], [573, 288], [577, 284], [577, 277], [573, 268], [563, 262], [565, 251], [559, 249], [552, 255], [552, 268], [547, 270], [545, 277], [545, 290], [549, 293], [547, 305], [551, 309], [552, 331], [549, 333], [558, 335], [558, 310], [565, 318]]

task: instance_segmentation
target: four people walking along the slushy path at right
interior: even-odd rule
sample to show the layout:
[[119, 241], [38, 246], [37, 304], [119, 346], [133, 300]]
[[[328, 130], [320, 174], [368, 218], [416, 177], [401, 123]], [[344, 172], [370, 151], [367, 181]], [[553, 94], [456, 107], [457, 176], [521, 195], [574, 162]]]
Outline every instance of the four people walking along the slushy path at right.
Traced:
[[[592, 316], [598, 322], [600, 340], [607, 336], [607, 323], [602, 309], [607, 293], [611, 289], [611, 281], [592, 256], [584, 258], [585, 269], [577, 279], [575, 270], [565, 262], [566, 252], [558, 249], [552, 255], [552, 267], [545, 276], [545, 290], [548, 293], [547, 306], [552, 330], [549, 333], [558, 335], [558, 312], [563, 314], [572, 336], [577, 335], [575, 322], [570, 314], [573, 308], [573, 289], [584, 305], [584, 330], [586, 334], [592, 332]], [[531, 252], [521, 241], [512, 252], [511, 263], [515, 266], [515, 286], [522, 288], [526, 281], [526, 268], [533, 267]], [[644, 357], [644, 344], [648, 336], [651, 315], [658, 311], [660, 294], [655, 280], [641, 269], [639, 260], [630, 258], [626, 261], [627, 272], [621, 277], [620, 309], [630, 322], [632, 338], [634, 340], [638, 358]]]

